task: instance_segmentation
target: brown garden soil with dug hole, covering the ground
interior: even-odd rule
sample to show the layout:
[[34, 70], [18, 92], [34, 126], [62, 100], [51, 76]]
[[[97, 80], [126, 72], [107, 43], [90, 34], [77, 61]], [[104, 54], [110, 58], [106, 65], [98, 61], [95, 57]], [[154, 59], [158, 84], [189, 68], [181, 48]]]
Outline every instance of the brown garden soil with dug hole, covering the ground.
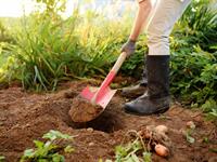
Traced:
[[[27, 148], [33, 148], [34, 139], [50, 130], [58, 130], [75, 136], [75, 151], [65, 154], [66, 162], [97, 162], [99, 159], [115, 159], [114, 148], [123, 143], [129, 131], [141, 131], [149, 125], [169, 127], [169, 157], [152, 153], [153, 162], [216, 162], [217, 127], [206, 121], [199, 110], [183, 108], [174, 103], [161, 116], [138, 117], [125, 113], [122, 106], [127, 98], [117, 93], [105, 111], [91, 122], [75, 123], [68, 111], [73, 99], [87, 82], [65, 83], [55, 93], [27, 93], [18, 85], [0, 90], [0, 156], [7, 162], [17, 162]], [[189, 121], [195, 124], [187, 141]]]

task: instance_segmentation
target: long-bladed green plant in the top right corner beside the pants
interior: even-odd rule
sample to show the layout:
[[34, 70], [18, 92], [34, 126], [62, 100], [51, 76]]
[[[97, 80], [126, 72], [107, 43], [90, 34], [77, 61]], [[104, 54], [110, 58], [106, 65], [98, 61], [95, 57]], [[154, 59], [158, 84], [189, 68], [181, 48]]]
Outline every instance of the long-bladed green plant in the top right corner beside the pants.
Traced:
[[216, 8], [215, 0], [192, 1], [179, 23], [188, 43], [199, 44], [205, 51], [215, 52], [213, 46], [217, 45]]

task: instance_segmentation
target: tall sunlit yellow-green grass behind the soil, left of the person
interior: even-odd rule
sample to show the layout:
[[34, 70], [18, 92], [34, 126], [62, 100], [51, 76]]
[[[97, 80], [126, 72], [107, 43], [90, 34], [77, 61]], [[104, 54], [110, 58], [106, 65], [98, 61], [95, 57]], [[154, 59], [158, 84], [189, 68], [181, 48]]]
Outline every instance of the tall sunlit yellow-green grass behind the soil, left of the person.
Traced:
[[91, 11], [80, 15], [78, 10], [67, 19], [47, 13], [24, 17], [0, 80], [21, 80], [25, 89], [40, 91], [55, 90], [60, 81], [72, 78], [104, 77], [127, 27], [120, 29], [119, 22]]

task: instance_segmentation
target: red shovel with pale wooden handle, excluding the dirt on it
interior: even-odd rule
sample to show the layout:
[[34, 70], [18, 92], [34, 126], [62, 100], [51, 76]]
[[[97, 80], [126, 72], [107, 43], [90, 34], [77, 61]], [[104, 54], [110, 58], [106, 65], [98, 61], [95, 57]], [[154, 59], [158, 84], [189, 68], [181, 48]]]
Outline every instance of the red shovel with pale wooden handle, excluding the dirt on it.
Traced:
[[113, 68], [111, 69], [110, 73], [106, 76], [100, 87], [87, 86], [80, 93], [81, 97], [89, 100], [92, 105], [99, 105], [103, 108], [98, 116], [100, 116], [104, 111], [105, 107], [107, 106], [107, 104], [110, 103], [110, 100], [117, 91], [117, 90], [111, 90], [110, 84], [114, 80], [116, 73], [118, 72], [126, 57], [127, 57], [126, 52], [123, 52], [119, 55], [115, 65], [113, 66]]

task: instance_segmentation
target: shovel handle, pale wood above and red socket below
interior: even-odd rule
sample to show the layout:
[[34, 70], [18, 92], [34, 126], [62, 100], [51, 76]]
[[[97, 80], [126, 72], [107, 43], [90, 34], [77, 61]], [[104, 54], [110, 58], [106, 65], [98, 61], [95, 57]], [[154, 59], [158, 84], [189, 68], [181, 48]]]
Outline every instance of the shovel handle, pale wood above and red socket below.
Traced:
[[111, 82], [114, 80], [116, 73], [118, 72], [119, 68], [122, 67], [123, 63], [125, 62], [127, 57], [127, 53], [123, 52], [119, 57], [117, 58], [115, 65], [111, 69], [110, 73], [106, 76], [102, 84], [100, 85], [100, 89], [95, 92], [94, 96], [91, 99], [92, 104], [95, 104], [95, 100], [98, 97], [103, 96], [104, 90], [110, 86]]

